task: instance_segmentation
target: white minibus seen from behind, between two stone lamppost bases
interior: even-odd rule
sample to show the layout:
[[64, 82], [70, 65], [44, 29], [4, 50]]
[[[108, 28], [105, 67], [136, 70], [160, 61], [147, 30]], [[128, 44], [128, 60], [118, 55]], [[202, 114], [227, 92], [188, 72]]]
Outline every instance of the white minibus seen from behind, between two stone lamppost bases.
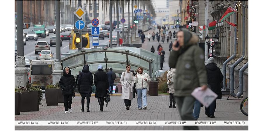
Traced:
[[29, 70], [29, 82], [33, 86], [41, 87], [44, 92], [47, 85], [53, 84], [53, 70], [54, 60], [32, 60]]

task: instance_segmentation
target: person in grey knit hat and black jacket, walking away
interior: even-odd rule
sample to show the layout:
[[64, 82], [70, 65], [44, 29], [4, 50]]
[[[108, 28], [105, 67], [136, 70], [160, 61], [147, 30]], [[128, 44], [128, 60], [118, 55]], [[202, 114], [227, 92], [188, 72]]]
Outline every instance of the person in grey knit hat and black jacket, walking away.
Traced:
[[[222, 91], [220, 83], [223, 81], [223, 75], [220, 69], [217, 67], [217, 64], [214, 63], [214, 58], [210, 57], [207, 60], [207, 84], [211, 86], [211, 90], [218, 95], [217, 99], [222, 99]], [[215, 99], [209, 107], [205, 107], [205, 114], [207, 117], [214, 118], [214, 111], [216, 109], [216, 100]]]

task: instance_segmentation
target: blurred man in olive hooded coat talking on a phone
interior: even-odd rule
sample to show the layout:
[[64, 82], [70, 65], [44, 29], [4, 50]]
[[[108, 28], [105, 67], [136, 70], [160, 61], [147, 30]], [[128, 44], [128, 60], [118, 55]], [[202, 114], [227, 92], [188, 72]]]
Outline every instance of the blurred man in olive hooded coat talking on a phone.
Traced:
[[[207, 88], [204, 52], [196, 45], [197, 42], [197, 36], [181, 29], [177, 33], [177, 43], [173, 44], [169, 57], [170, 68], [176, 67], [177, 70], [174, 95], [182, 121], [195, 120], [192, 115], [195, 102], [195, 98], [191, 96], [193, 90], [197, 87], [201, 87], [201, 90]], [[198, 126], [184, 126], [184, 130], [198, 130]]]

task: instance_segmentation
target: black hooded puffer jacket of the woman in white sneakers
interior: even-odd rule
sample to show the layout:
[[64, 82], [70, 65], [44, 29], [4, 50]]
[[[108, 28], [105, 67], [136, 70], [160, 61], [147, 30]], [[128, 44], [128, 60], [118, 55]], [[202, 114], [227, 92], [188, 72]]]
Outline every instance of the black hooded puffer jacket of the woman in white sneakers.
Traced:
[[[66, 66], [66, 67], [68, 67], [68, 66]], [[72, 95], [73, 91], [76, 87], [75, 78], [73, 75], [71, 75], [70, 69], [69, 69], [69, 74], [66, 74], [65, 68], [63, 70], [63, 76], [61, 76], [58, 84], [59, 84], [60, 88], [62, 89], [62, 95]]]

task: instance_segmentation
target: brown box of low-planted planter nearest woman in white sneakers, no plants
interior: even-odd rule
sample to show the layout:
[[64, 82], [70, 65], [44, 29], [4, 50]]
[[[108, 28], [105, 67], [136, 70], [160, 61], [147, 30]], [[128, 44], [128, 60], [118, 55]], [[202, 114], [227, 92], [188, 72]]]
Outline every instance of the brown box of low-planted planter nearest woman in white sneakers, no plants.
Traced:
[[58, 105], [58, 89], [45, 89], [46, 105]]

